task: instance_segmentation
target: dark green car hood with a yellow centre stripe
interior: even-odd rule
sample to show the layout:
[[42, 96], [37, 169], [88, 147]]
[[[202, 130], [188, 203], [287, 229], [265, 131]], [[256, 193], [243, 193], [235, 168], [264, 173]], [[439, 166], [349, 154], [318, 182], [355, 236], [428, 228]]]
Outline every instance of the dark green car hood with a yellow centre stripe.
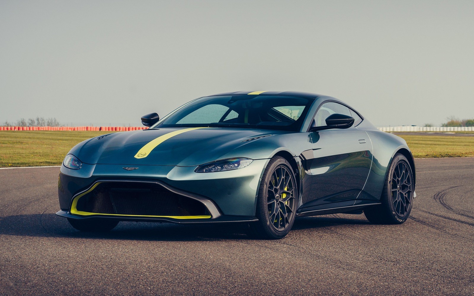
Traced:
[[[71, 154], [89, 164], [195, 166], [229, 155], [229, 152], [267, 138], [284, 134], [246, 128], [169, 127], [103, 135], [77, 144]], [[232, 153], [230, 153], [232, 154]]]

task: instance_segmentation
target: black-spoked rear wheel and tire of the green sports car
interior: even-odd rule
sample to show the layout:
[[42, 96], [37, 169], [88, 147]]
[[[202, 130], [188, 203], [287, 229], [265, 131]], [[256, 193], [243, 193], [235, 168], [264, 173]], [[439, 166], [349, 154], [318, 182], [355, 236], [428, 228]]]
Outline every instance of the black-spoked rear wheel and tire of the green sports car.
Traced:
[[366, 208], [365, 217], [374, 224], [402, 224], [410, 216], [414, 190], [410, 163], [397, 153], [383, 185], [381, 205]]

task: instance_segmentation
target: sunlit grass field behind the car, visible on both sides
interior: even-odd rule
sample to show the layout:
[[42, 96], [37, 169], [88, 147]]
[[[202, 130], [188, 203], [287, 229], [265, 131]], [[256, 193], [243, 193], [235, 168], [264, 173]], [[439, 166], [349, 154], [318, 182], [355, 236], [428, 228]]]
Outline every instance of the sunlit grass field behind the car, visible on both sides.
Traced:
[[[0, 167], [60, 165], [66, 153], [79, 142], [104, 132], [0, 131]], [[474, 156], [474, 137], [410, 135], [404, 138], [413, 156]]]

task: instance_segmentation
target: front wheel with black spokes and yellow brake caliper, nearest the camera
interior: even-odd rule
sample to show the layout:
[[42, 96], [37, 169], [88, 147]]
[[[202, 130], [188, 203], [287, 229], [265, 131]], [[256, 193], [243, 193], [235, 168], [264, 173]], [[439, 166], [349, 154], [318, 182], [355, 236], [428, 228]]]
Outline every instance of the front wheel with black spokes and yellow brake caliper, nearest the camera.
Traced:
[[[282, 178], [283, 176], [283, 178]], [[265, 168], [257, 197], [256, 217], [248, 235], [257, 239], [281, 239], [296, 218], [297, 185], [290, 163], [275, 156]]]

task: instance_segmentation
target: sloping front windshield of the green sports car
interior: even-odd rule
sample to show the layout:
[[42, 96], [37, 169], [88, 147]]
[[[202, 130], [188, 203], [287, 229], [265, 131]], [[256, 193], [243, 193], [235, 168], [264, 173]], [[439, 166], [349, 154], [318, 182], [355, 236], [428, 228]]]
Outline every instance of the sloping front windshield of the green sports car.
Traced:
[[299, 131], [314, 99], [234, 95], [196, 99], [151, 128], [225, 126]]

